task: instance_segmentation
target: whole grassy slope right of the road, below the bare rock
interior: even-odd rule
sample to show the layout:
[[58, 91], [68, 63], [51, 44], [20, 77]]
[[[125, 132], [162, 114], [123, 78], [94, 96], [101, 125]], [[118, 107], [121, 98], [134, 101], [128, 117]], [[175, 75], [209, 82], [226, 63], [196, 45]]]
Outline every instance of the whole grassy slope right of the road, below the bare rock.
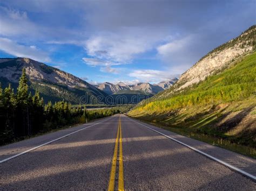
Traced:
[[[223, 72], [145, 100], [129, 115], [256, 157], [256, 53]], [[160, 97], [160, 98], [159, 98]]]

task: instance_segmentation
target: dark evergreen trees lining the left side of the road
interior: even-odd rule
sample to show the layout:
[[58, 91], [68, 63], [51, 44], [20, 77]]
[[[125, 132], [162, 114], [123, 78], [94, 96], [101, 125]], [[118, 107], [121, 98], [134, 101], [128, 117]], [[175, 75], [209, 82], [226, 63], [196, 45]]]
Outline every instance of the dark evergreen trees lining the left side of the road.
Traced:
[[16, 91], [10, 84], [4, 90], [0, 87], [0, 145], [68, 125], [127, 112], [131, 107], [117, 105], [112, 108], [86, 110], [83, 105], [74, 107], [65, 101], [44, 104], [38, 91], [34, 95], [29, 93], [28, 79], [23, 69]]

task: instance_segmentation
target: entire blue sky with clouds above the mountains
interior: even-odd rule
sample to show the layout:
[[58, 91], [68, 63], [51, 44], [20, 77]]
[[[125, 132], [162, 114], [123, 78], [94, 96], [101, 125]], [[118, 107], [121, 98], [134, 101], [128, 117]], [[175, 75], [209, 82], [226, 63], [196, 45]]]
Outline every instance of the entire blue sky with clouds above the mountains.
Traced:
[[0, 0], [0, 58], [89, 83], [158, 83], [256, 24], [256, 1]]

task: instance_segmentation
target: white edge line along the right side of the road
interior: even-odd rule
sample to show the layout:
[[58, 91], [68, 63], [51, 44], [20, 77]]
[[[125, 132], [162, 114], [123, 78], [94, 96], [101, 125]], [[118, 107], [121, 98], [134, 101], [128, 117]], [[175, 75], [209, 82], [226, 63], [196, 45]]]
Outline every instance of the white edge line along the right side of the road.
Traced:
[[[129, 117], [129, 119], [130, 119], [131, 121], [133, 121], [133, 122], [136, 122], [136, 123], [138, 123], [138, 124], [140, 124], [140, 125], [143, 125], [142, 123], [139, 123], [139, 122], [137, 122], [137, 121], [131, 119], [130, 117]], [[193, 151], [196, 151], [196, 152], [198, 152], [198, 153], [200, 153], [200, 154], [203, 154], [203, 155], [205, 155], [205, 157], [208, 157], [208, 158], [210, 158], [210, 159], [212, 159], [212, 160], [215, 160], [215, 161], [219, 162], [220, 164], [222, 164], [222, 165], [224, 165], [224, 166], [226, 166], [226, 167], [228, 167], [228, 168], [231, 168], [233, 171], [239, 172], [239, 173], [241, 173], [241, 174], [247, 176], [248, 178], [251, 178], [251, 179], [253, 179], [253, 180], [256, 180], [256, 176], [254, 176], [254, 175], [252, 175], [252, 174], [249, 174], [249, 173], [247, 173], [247, 172], [245, 172], [245, 171], [242, 171], [241, 169], [239, 169], [239, 168], [237, 168], [237, 167], [235, 167], [235, 166], [232, 166], [232, 165], [228, 164], [227, 162], [224, 162], [224, 161], [222, 161], [222, 160], [220, 160], [220, 159], [217, 159], [217, 158], [213, 157], [212, 155], [209, 155], [209, 154], [207, 154], [207, 153], [205, 153], [205, 152], [203, 152], [203, 151], [198, 150], [197, 148], [194, 148], [194, 147], [192, 147], [192, 146], [190, 146], [190, 145], [187, 145], [187, 144], [185, 144], [185, 143], [183, 143], [183, 142], [180, 142], [180, 141], [177, 140], [177, 139], [174, 139], [174, 138], [172, 138], [172, 137], [169, 137], [169, 136], [165, 135], [164, 133], [161, 133], [161, 132], [159, 132], [159, 131], [157, 131], [157, 130], [154, 130], [154, 129], [150, 128], [149, 126], [146, 126], [146, 125], [143, 125], [143, 126], [145, 126], [147, 129], [150, 129], [150, 130], [152, 130], [152, 131], [154, 131], [154, 132], [159, 133], [160, 135], [163, 135], [163, 136], [165, 136], [165, 137], [167, 137], [167, 138], [173, 140], [174, 142], [177, 142], [177, 143], [179, 143], [179, 144], [181, 144], [181, 145], [184, 145], [184, 146], [190, 148], [190, 149], [193, 150]]]

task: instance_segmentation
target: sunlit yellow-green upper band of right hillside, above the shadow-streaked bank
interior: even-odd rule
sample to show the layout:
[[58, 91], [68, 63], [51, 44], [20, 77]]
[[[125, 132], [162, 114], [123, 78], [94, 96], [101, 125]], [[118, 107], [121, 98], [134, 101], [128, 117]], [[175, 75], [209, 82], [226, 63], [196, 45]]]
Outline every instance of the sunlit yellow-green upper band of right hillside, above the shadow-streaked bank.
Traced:
[[[234, 67], [226, 69], [218, 75], [210, 76], [205, 81], [174, 93], [170, 97], [158, 99], [158, 96], [154, 96], [151, 102], [142, 102], [131, 114], [152, 114], [153, 112], [165, 112], [191, 105], [243, 100], [255, 94], [255, 74], [256, 53], [254, 52]], [[153, 101], [154, 99], [156, 101]]]

